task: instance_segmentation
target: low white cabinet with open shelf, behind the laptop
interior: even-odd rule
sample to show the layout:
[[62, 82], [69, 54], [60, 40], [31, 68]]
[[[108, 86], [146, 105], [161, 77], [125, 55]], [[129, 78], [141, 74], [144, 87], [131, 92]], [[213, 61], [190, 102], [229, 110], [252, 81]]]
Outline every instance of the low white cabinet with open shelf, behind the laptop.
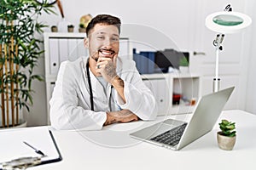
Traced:
[[[154, 94], [159, 116], [194, 111], [201, 95], [199, 75], [166, 73], [142, 75], [142, 78]], [[180, 99], [174, 101], [174, 94]]]

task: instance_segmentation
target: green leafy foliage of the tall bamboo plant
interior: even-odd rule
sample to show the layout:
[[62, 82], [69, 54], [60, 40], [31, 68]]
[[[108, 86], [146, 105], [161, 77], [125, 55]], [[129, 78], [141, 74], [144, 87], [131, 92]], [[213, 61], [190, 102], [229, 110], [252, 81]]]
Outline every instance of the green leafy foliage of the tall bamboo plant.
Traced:
[[[18, 88], [15, 87], [15, 92], [19, 92], [20, 97], [16, 105], [26, 107], [28, 111], [33, 102], [32, 82], [44, 80], [33, 74], [35, 66], [38, 65], [39, 57], [44, 53], [44, 50], [40, 49], [40, 43], [43, 41], [34, 37], [36, 32], [42, 34], [44, 27], [46, 27], [43, 23], [38, 22], [38, 16], [43, 14], [43, 11], [54, 14], [51, 8], [53, 8], [52, 5], [47, 3], [41, 5], [34, 0], [0, 1], [0, 43], [8, 44], [13, 37], [19, 49], [18, 54], [11, 51], [11, 54], [14, 55], [15, 65], [19, 65], [19, 70], [18, 72], [15, 71], [13, 76], [9, 75], [10, 71], [6, 71], [7, 75], [4, 74], [3, 77], [0, 77], [0, 85], [4, 85], [0, 89], [0, 93], [10, 94], [7, 87], [10, 87], [12, 82], [17, 83]], [[6, 23], [7, 20], [9, 20], [9, 25]], [[10, 25], [12, 20], [14, 21], [13, 26]], [[9, 55], [2, 56], [0, 65], [4, 63], [5, 59], [9, 59]]]

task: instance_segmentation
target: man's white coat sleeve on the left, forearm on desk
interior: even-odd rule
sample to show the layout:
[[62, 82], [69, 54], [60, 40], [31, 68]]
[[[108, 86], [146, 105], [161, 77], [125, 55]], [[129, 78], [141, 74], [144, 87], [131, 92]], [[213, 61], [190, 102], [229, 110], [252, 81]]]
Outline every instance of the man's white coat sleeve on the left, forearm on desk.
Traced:
[[[69, 66], [69, 61], [61, 63], [50, 105], [51, 126], [56, 129], [100, 130], [107, 119], [104, 111], [90, 111], [79, 106], [79, 82], [77, 71]], [[83, 74], [83, 73], [80, 73]], [[86, 96], [90, 100], [90, 96]]]

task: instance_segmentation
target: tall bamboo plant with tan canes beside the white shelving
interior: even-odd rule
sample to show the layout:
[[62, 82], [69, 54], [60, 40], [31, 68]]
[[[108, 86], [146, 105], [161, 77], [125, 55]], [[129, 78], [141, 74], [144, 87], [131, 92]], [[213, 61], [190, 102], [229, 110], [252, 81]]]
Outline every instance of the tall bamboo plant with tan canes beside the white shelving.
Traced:
[[20, 111], [32, 105], [32, 82], [43, 78], [34, 73], [44, 53], [36, 33], [43, 33], [38, 22], [42, 12], [53, 13], [52, 5], [34, 0], [9, 0], [0, 3], [0, 127], [22, 123]]

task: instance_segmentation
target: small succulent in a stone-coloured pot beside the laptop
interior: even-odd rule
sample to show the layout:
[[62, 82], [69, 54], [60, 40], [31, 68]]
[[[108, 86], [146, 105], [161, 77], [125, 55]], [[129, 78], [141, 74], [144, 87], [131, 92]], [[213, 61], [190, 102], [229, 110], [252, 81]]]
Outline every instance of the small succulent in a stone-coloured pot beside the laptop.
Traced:
[[236, 123], [222, 120], [218, 125], [221, 130], [217, 133], [218, 147], [222, 150], [233, 150], [236, 144]]

